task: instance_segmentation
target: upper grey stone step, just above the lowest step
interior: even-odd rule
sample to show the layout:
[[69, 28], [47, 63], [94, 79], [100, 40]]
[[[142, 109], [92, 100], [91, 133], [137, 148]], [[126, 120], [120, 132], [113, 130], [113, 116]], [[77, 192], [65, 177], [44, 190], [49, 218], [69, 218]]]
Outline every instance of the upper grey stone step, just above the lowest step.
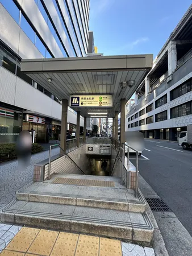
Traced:
[[78, 185], [32, 183], [20, 189], [16, 198], [23, 201], [68, 204], [84, 207], [145, 212], [146, 201], [126, 188], [86, 187]]

